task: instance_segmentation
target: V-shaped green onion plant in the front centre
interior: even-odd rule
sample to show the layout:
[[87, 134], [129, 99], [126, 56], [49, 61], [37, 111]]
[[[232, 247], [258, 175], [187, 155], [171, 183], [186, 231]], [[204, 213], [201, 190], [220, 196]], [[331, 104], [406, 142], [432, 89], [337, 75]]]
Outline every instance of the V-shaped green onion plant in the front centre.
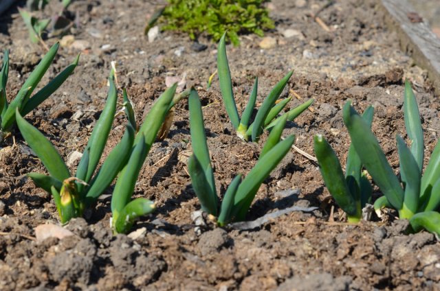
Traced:
[[229, 222], [244, 220], [261, 183], [274, 170], [294, 143], [294, 135], [281, 141], [281, 134], [287, 121], [284, 115], [272, 128], [267, 142], [260, 154], [259, 161], [242, 180], [241, 174], [235, 176], [223, 196], [219, 209], [214, 173], [211, 167], [208, 144], [206, 143], [203, 114], [199, 95], [190, 92], [190, 132], [192, 156], [188, 159], [188, 172], [192, 187], [199, 198], [201, 209], [217, 217], [217, 224], [223, 226]]

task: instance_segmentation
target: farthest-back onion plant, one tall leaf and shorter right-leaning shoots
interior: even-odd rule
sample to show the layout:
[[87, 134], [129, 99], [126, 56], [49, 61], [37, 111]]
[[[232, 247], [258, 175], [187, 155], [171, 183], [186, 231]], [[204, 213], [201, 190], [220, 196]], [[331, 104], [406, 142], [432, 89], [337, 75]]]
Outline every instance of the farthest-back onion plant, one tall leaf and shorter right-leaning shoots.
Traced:
[[277, 117], [278, 113], [281, 113], [283, 108], [285, 108], [287, 103], [291, 100], [291, 97], [288, 97], [276, 104], [278, 97], [280, 97], [281, 93], [283, 93], [289, 78], [293, 74], [293, 71], [290, 71], [283, 79], [281, 79], [280, 82], [278, 82], [278, 84], [276, 84], [269, 95], [267, 95], [263, 101], [263, 104], [257, 111], [254, 121], [250, 123], [252, 112], [256, 103], [258, 78], [255, 78], [252, 93], [250, 93], [249, 102], [240, 117], [236, 108], [234, 93], [232, 91], [232, 79], [228, 65], [228, 58], [226, 56], [225, 34], [223, 34], [219, 42], [219, 49], [217, 53], [217, 71], [219, 73], [221, 97], [223, 98], [226, 112], [231, 119], [232, 126], [234, 126], [236, 130], [236, 134], [245, 141], [248, 141], [249, 138], [251, 138], [252, 141], [258, 141], [263, 130], [270, 129], [275, 126], [282, 116], [285, 115], [287, 120], [292, 121], [314, 102], [314, 99], [310, 99], [300, 106], [289, 110], [287, 113], [284, 113], [281, 115], [281, 117]]

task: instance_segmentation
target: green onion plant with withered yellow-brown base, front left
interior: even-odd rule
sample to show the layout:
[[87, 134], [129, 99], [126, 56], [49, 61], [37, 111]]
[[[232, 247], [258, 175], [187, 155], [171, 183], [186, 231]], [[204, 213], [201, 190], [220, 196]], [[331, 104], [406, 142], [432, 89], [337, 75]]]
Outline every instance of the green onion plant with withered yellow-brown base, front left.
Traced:
[[134, 139], [134, 130], [130, 125], [126, 126], [121, 141], [111, 150], [100, 169], [96, 171], [109, 137], [117, 104], [113, 78], [109, 79], [109, 84], [107, 102], [91, 132], [75, 176], [69, 172], [52, 143], [44, 137], [43, 133], [25, 121], [17, 108], [17, 124], [21, 135], [49, 172], [49, 175], [30, 173], [28, 176], [32, 178], [37, 187], [52, 194], [61, 223], [83, 216], [84, 209], [96, 202], [129, 160]]

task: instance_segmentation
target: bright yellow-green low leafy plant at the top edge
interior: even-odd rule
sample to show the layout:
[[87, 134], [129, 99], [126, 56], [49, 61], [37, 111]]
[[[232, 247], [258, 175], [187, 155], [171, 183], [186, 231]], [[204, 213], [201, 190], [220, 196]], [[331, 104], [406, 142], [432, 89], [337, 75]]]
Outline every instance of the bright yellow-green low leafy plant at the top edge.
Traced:
[[263, 36], [264, 30], [273, 29], [263, 3], [267, 0], [168, 0], [162, 10], [166, 24], [163, 30], [189, 34], [191, 39], [206, 33], [218, 41], [223, 32], [234, 45], [239, 45], [239, 34]]

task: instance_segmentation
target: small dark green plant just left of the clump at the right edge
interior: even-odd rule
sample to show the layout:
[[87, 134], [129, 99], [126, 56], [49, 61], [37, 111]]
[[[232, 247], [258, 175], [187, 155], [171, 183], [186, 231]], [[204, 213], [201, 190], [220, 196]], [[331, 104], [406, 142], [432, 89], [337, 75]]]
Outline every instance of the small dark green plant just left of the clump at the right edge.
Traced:
[[[371, 127], [373, 107], [366, 108], [362, 117], [366, 124]], [[316, 135], [314, 148], [322, 178], [331, 196], [333, 196], [339, 207], [347, 213], [349, 222], [359, 222], [362, 218], [362, 208], [365, 207], [366, 203], [371, 202], [373, 188], [368, 178], [366, 178], [366, 173], [362, 173], [362, 163], [355, 148], [353, 145], [349, 148], [345, 175], [338, 156], [336, 156], [335, 151], [325, 137]]]

